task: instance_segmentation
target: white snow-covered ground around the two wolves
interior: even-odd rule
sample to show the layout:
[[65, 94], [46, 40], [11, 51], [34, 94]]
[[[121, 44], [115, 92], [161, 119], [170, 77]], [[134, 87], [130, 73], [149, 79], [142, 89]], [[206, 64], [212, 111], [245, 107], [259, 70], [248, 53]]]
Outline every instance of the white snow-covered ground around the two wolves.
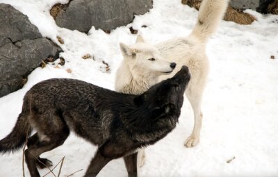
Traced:
[[[57, 44], [56, 36], [62, 37], [65, 44], [59, 44], [64, 50], [60, 56], [66, 60], [59, 69], [55, 68], [58, 61], [35, 69], [21, 90], [0, 98], [0, 139], [12, 130], [23, 96], [35, 83], [54, 77], [77, 78], [113, 90], [115, 71], [122, 60], [119, 42], [132, 44], [136, 40], [130, 26], [154, 44], [188, 35], [197, 19], [197, 10], [180, 0], [154, 0], [154, 8], [136, 16], [133, 23], [111, 34], [92, 27], [86, 35], [56, 26], [49, 9], [58, 2], [67, 0], [0, 0], [26, 14], [43, 36]], [[186, 100], [177, 128], [147, 148], [141, 176], [278, 176], [278, 15], [248, 12], [258, 20], [247, 26], [222, 22], [208, 42], [211, 71], [202, 104], [201, 142], [190, 149], [183, 146], [193, 128], [193, 111]], [[82, 58], [88, 53], [95, 60]], [[103, 60], [110, 65], [110, 72]], [[74, 175], [82, 176], [95, 150], [96, 146], [72, 134], [63, 146], [42, 157], [56, 165], [65, 156], [62, 176], [83, 169]], [[42, 175], [47, 172], [40, 170]], [[22, 176], [22, 151], [0, 156], [0, 176]], [[99, 176], [127, 176], [123, 160], [109, 162]]]

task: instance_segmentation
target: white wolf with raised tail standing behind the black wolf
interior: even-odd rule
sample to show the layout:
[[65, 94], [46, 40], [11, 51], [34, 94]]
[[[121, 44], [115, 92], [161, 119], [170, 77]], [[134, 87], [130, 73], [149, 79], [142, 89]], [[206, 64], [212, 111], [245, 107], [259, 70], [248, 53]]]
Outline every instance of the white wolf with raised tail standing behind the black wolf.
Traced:
[[[186, 96], [194, 111], [195, 124], [193, 132], [186, 139], [187, 147], [199, 143], [203, 117], [202, 94], [208, 76], [206, 41], [215, 32], [227, 5], [228, 0], [203, 0], [197, 24], [187, 37], [177, 37], [151, 45], [138, 35], [136, 44], [120, 43], [124, 60], [117, 70], [115, 81], [117, 92], [142, 94], [155, 83], [172, 77], [182, 65], [189, 67], [191, 80]], [[177, 69], [174, 70], [175, 67]]]

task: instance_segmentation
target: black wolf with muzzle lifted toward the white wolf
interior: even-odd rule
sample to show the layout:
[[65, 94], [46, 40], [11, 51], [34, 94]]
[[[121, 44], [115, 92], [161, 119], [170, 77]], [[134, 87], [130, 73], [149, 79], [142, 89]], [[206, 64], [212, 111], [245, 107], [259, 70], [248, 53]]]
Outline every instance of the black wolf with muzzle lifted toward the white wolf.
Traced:
[[188, 67], [141, 95], [122, 94], [90, 83], [54, 78], [34, 85], [24, 96], [12, 132], [0, 141], [0, 152], [21, 148], [28, 137], [26, 164], [32, 177], [36, 165], [50, 161], [39, 155], [62, 145], [70, 131], [99, 146], [85, 176], [97, 176], [111, 160], [124, 158], [129, 176], [137, 176], [137, 149], [154, 144], [176, 126]]

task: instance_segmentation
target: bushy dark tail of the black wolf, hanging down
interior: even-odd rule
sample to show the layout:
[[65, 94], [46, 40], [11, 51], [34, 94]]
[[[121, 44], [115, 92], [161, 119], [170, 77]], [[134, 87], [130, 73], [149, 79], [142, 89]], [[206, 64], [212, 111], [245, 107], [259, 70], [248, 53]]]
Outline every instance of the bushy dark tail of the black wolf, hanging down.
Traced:
[[[25, 102], [25, 101], [24, 101]], [[17, 123], [12, 132], [0, 140], [0, 153], [10, 153], [10, 151], [17, 151], [22, 148], [26, 137], [31, 134], [31, 128], [29, 128], [26, 104], [23, 104], [22, 112], [17, 118]]]

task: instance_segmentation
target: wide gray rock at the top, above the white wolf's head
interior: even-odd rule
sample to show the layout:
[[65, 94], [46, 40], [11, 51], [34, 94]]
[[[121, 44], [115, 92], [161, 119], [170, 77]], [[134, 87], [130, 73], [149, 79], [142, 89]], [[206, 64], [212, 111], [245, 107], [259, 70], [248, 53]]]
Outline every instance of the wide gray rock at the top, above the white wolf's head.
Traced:
[[133, 15], [152, 8], [152, 0], [72, 0], [56, 17], [56, 24], [88, 32], [92, 26], [110, 31], [129, 24]]

